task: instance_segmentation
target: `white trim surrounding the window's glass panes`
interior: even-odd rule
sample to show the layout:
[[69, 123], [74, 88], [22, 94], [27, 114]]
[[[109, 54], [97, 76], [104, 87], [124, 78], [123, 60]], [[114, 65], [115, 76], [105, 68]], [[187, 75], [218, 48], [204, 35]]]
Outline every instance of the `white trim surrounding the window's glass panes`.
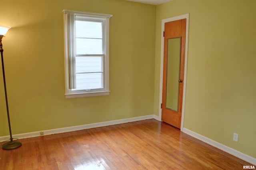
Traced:
[[[105, 96], [110, 94], [109, 90], [109, 20], [113, 16], [111, 14], [100, 14], [100, 13], [91, 13], [91, 12], [81, 12], [73, 10], [63, 10], [64, 14], [64, 68], [65, 68], [65, 96], [66, 98], [80, 98], [80, 97], [90, 97], [90, 96]], [[70, 52], [69, 44], [74, 44], [70, 34], [68, 32], [69, 23], [68, 14], [74, 14], [91, 19], [104, 19], [105, 20], [105, 57], [104, 57], [104, 90], [88, 92], [87, 90], [72, 90], [70, 89], [70, 66], [73, 66], [74, 63], [70, 63]], [[74, 48], [74, 47], [73, 47]], [[71, 65], [70, 65], [71, 64]]]

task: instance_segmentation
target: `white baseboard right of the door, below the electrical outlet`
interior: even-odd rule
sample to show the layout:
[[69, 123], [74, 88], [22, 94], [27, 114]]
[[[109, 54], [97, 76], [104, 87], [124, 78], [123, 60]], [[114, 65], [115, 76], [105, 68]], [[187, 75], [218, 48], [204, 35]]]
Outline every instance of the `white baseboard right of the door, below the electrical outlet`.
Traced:
[[246, 155], [246, 154], [244, 154], [242, 152], [234, 150], [234, 149], [232, 149], [232, 148], [230, 148], [230, 147], [228, 147], [226, 145], [220, 144], [220, 143], [218, 143], [218, 142], [216, 142], [216, 141], [214, 141], [214, 140], [212, 140], [210, 138], [206, 138], [205, 136], [202, 136], [202, 135], [200, 135], [200, 134], [198, 134], [196, 132], [193, 132], [191, 130], [188, 130], [186, 128], [183, 128], [182, 132], [184, 132], [184, 133], [186, 133], [186, 134], [188, 134], [188, 135], [190, 135], [190, 136], [192, 136], [194, 138], [197, 138], [198, 140], [201, 140], [201, 141], [203, 141], [203, 142], [205, 142], [205, 143], [207, 143], [207, 144], [209, 144], [211, 146], [214, 146], [215, 148], [218, 148], [220, 150], [223, 150], [224, 152], [227, 152], [227, 153], [229, 153], [229, 154], [231, 154], [233, 156], [236, 156], [236, 157], [238, 157], [238, 158], [240, 158], [242, 160], [245, 160], [246, 162], [249, 162], [251, 164], [256, 165], [256, 158], [248, 156], [248, 155]]

